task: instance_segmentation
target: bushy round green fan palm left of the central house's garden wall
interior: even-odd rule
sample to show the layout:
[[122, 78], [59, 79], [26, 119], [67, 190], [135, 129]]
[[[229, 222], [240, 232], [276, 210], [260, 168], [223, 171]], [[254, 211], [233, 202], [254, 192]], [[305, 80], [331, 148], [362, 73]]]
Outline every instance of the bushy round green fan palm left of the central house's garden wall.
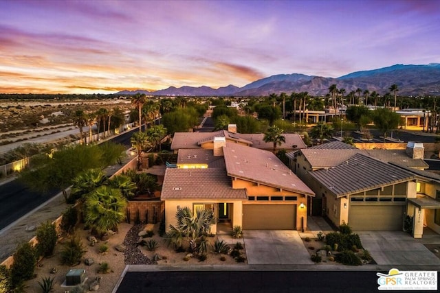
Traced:
[[117, 230], [125, 218], [126, 199], [119, 189], [102, 185], [92, 191], [84, 203], [85, 224], [98, 235], [106, 235], [109, 230]]

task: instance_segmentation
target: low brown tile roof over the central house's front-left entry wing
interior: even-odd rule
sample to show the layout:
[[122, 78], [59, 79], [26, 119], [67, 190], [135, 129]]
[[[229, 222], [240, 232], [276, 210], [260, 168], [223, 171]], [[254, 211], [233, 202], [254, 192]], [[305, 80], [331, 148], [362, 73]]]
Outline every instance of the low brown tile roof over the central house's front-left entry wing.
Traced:
[[245, 189], [232, 189], [225, 169], [174, 169], [165, 172], [161, 199], [237, 198], [246, 199]]

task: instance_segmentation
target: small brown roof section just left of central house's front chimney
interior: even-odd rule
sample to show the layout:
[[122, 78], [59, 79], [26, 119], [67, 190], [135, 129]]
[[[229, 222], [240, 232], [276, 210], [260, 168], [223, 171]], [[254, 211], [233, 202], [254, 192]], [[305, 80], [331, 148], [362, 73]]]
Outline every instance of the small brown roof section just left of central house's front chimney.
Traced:
[[225, 169], [223, 156], [214, 156], [212, 150], [201, 148], [180, 149], [177, 154], [177, 164], [207, 164], [208, 168]]

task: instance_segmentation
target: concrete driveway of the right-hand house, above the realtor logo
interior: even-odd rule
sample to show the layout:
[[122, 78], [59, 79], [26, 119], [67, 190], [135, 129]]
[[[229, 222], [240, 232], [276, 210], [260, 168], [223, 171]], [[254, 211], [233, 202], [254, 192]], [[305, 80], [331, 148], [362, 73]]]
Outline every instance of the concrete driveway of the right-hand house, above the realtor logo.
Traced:
[[408, 233], [399, 231], [362, 231], [358, 233], [364, 248], [379, 265], [434, 265], [440, 259]]

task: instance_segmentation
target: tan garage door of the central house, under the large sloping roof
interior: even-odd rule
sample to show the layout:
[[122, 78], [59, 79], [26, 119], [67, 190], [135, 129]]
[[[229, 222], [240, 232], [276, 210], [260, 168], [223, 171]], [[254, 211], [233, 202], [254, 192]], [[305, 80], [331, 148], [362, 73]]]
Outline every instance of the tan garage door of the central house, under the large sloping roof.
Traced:
[[296, 204], [243, 204], [243, 229], [296, 230]]

